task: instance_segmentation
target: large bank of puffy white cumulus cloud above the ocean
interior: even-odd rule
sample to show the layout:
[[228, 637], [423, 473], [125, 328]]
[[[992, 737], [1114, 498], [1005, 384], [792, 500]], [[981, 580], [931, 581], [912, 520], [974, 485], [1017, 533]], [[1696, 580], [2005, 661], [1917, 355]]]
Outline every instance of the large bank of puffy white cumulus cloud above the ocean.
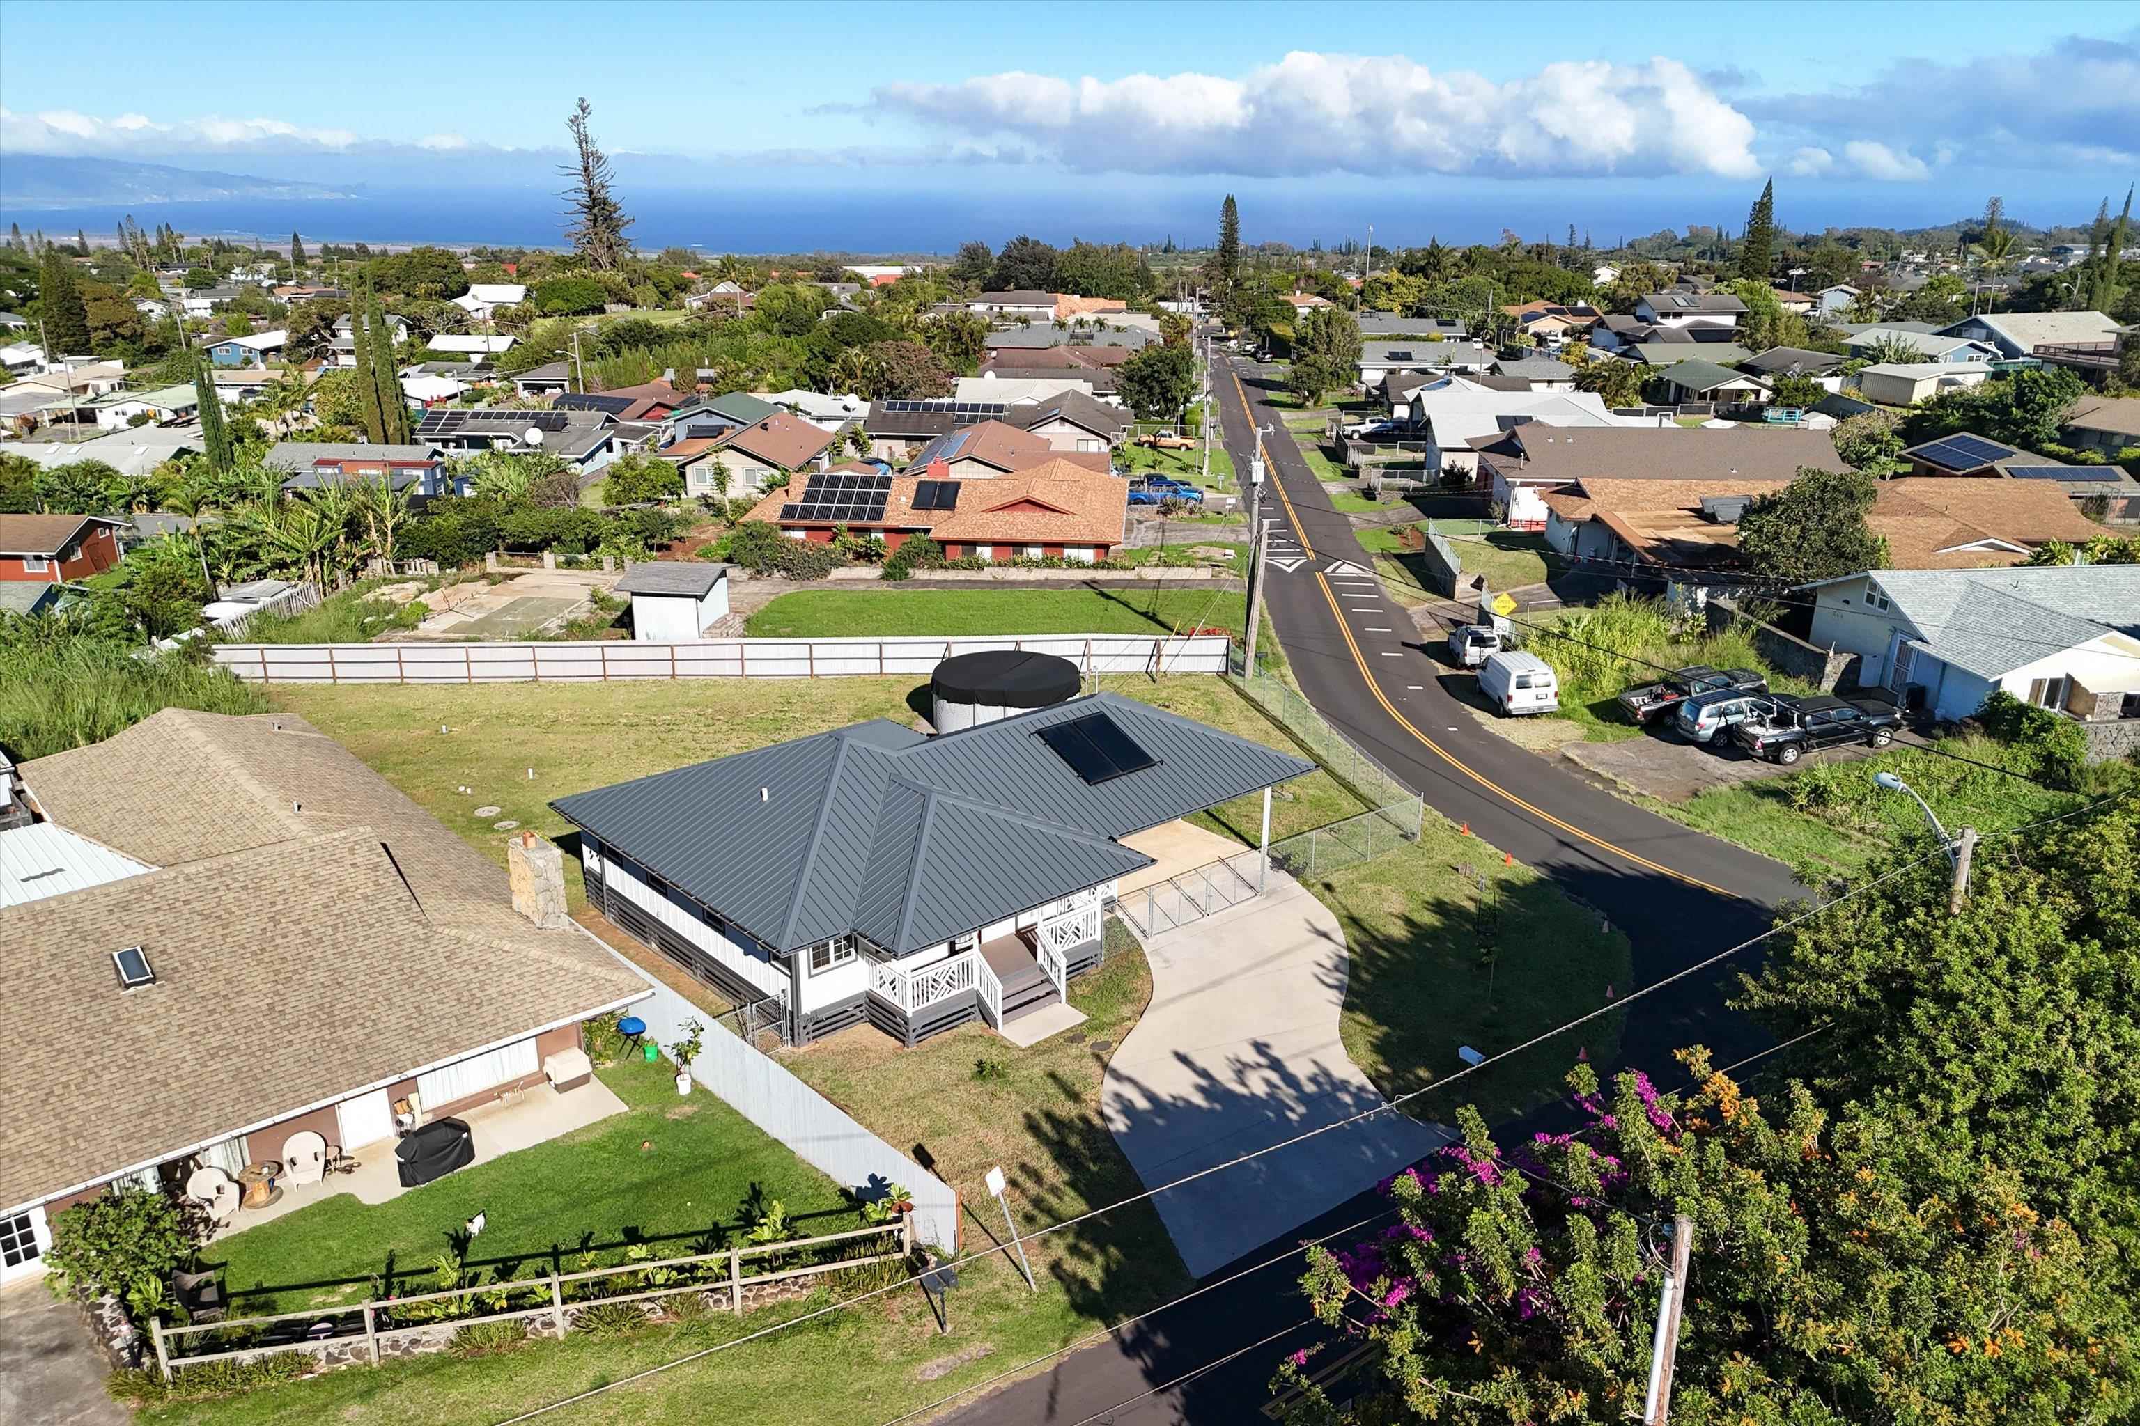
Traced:
[[1496, 83], [1402, 56], [1293, 51], [1245, 79], [1002, 73], [888, 83], [880, 111], [1012, 137], [1081, 171], [1753, 177], [1753, 122], [1678, 60]]

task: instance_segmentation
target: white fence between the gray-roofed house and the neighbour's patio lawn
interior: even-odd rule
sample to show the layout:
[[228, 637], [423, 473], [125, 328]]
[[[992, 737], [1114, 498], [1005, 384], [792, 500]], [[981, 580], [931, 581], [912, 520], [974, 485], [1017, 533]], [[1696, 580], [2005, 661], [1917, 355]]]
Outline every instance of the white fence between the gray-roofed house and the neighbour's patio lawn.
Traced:
[[905, 1187], [914, 1197], [916, 1238], [946, 1253], [959, 1246], [959, 1193], [950, 1184], [873, 1135], [749, 1041], [719, 1028], [719, 1016], [691, 1005], [614, 949], [610, 954], [653, 988], [653, 996], [636, 1001], [629, 1011], [646, 1022], [648, 1039], [666, 1048], [685, 1039], [687, 1020], [706, 1026], [704, 1048], [691, 1060], [691, 1078], [700, 1086], [841, 1187], [862, 1193], [886, 1184]]

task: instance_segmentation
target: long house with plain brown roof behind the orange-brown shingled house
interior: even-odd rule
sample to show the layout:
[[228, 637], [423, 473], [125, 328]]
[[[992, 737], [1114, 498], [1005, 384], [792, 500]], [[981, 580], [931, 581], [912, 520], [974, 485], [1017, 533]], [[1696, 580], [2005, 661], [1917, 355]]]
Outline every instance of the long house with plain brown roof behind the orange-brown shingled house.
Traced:
[[1492, 483], [1494, 505], [1517, 530], [1543, 530], [1547, 522], [1543, 496], [1581, 487], [1590, 479], [1744, 485], [1789, 483], [1800, 466], [1836, 468], [1836, 447], [1825, 432], [1744, 425], [1560, 430], [1528, 423], [1513, 425], [1500, 436], [1481, 436], [1470, 445], [1479, 451], [1481, 479]]

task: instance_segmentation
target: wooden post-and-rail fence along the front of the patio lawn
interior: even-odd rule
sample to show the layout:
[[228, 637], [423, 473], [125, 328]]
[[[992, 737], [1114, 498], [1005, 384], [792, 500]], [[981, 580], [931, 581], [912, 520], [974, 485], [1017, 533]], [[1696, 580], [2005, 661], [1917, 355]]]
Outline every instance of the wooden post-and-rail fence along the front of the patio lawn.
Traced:
[[[862, 1257], [843, 1257], [826, 1264], [807, 1264], [802, 1268], [785, 1268], [781, 1272], [743, 1272], [743, 1261], [747, 1257], [766, 1257], [770, 1253], [794, 1253], [798, 1249], [815, 1249], [828, 1242], [854, 1242], [858, 1238], [890, 1238], [895, 1246], [882, 1253], [867, 1253]], [[276, 1355], [278, 1351], [310, 1351], [323, 1355], [332, 1349], [355, 1347], [360, 1332], [334, 1330], [327, 1336], [312, 1336], [310, 1332], [297, 1340], [276, 1343], [270, 1347], [233, 1347], [229, 1351], [201, 1351], [195, 1355], [173, 1355], [171, 1345], [182, 1343], [188, 1336], [199, 1336], [203, 1332], [246, 1332], [263, 1330], [268, 1323], [276, 1321], [310, 1321], [315, 1326], [332, 1323], [336, 1317], [362, 1317], [362, 1343], [364, 1358], [379, 1366], [381, 1349], [392, 1351], [402, 1338], [417, 1334], [439, 1336], [441, 1330], [458, 1332], [460, 1328], [486, 1323], [486, 1321], [529, 1321], [535, 1317], [548, 1317], [550, 1328], [565, 1336], [571, 1330], [569, 1308], [586, 1308], [610, 1302], [659, 1302], [661, 1298], [676, 1298], [683, 1293], [723, 1293], [728, 1298], [728, 1308], [732, 1313], [743, 1313], [743, 1293], [751, 1287], [764, 1287], [770, 1283], [790, 1283], [807, 1276], [822, 1276], [826, 1272], [847, 1272], [852, 1268], [867, 1268], [871, 1264], [884, 1264], [892, 1259], [905, 1259], [914, 1253], [914, 1221], [901, 1214], [892, 1223], [880, 1223], [871, 1227], [850, 1229], [845, 1234], [822, 1234], [817, 1238], [794, 1238], [790, 1242], [768, 1242], [762, 1246], [736, 1246], [721, 1253], [696, 1253], [691, 1257], [663, 1257], [642, 1264], [618, 1264], [616, 1268], [591, 1268], [586, 1272], [552, 1272], [539, 1278], [518, 1278], [511, 1283], [475, 1283], [462, 1287], [449, 1287], [447, 1291], [426, 1291], [409, 1298], [368, 1298], [364, 1302], [351, 1302], [347, 1306], [317, 1306], [304, 1313], [268, 1313], [263, 1317], [231, 1317], [225, 1321], [210, 1321], [184, 1328], [167, 1328], [160, 1321], [150, 1323], [150, 1334], [156, 1343], [156, 1370], [165, 1381], [171, 1381], [171, 1370], [175, 1366], [195, 1366], [199, 1362], [246, 1362], [253, 1358]], [[653, 1287], [646, 1291], [616, 1293], [616, 1296], [593, 1296], [574, 1298], [567, 1302], [567, 1283], [591, 1283], [597, 1278], [627, 1276], [636, 1272], [696, 1268], [700, 1264], [723, 1264], [728, 1268], [725, 1278], [698, 1278], [691, 1283], [672, 1283], [663, 1287]], [[379, 1326], [385, 1317], [389, 1323], [394, 1313], [419, 1306], [426, 1302], [454, 1302], [460, 1298], [473, 1298], [479, 1293], [511, 1293], [511, 1296], [537, 1296], [548, 1298], [548, 1302], [537, 1306], [507, 1308], [496, 1313], [471, 1313], [467, 1317], [441, 1317], [437, 1321], [415, 1321], [407, 1326]]]

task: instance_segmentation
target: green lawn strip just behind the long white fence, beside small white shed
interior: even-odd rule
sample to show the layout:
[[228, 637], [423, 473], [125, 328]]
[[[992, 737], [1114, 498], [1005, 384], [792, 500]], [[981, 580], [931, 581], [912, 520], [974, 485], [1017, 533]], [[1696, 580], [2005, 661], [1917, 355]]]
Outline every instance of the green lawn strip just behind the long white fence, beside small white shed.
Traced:
[[1192, 590], [798, 590], [753, 614], [753, 639], [1173, 633], [1241, 629], [1245, 599]]

